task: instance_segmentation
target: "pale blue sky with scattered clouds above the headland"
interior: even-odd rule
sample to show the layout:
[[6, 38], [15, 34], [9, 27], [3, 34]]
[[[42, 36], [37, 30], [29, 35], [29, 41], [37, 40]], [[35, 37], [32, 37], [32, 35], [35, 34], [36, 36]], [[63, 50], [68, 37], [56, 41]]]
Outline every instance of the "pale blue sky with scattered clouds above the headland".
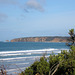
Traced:
[[75, 29], [75, 0], [0, 0], [0, 41], [69, 36]]

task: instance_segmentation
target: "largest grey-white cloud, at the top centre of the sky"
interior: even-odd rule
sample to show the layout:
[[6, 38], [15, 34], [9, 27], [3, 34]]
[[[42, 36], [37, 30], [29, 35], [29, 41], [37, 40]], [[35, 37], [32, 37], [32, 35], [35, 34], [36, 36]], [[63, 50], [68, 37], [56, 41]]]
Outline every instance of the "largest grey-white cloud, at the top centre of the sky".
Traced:
[[44, 8], [43, 8], [42, 4], [37, 0], [28, 0], [26, 2], [26, 8], [27, 9], [35, 9], [35, 10], [38, 10], [38, 11], [41, 11], [41, 12], [44, 11]]

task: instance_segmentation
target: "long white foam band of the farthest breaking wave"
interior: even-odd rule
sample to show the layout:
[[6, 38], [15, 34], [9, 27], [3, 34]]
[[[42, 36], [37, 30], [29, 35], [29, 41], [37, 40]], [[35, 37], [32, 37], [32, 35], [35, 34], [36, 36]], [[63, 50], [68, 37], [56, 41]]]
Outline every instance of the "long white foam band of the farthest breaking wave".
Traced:
[[0, 56], [19, 56], [19, 55], [32, 55], [42, 54], [43, 52], [50, 52], [58, 49], [41, 49], [41, 50], [21, 50], [21, 51], [3, 51], [0, 52]]

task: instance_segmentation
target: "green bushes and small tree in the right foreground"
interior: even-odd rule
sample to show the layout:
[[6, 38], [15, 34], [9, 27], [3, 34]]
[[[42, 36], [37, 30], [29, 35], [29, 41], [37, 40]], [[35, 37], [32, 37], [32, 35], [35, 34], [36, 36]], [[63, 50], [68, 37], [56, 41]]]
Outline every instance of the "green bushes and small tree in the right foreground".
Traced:
[[[74, 29], [69, 34], [74, 43]], [[41, 57], [20, 75], [75, 75], [75, 46], [71, 45], [69, 52], [62, 50], [58, 55], [52, 53], [48, 58]]]

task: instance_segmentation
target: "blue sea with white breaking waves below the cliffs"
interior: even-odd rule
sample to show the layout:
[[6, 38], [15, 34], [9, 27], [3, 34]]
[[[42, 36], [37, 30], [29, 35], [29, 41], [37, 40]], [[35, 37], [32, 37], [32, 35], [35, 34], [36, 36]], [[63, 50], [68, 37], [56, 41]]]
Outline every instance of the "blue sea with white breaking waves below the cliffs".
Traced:
[[48, 57], [52, 52], [58, 54], [61, 50], [69, 51], [69, 47], [65, 43], [0, 42], [0, 69], [16, 75], [44, 54]]

